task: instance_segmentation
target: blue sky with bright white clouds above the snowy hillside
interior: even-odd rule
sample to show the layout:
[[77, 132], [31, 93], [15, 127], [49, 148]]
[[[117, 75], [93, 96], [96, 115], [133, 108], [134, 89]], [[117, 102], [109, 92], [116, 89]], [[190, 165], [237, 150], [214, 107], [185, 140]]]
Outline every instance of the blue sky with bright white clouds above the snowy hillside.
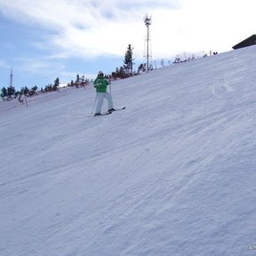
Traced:
[[[65, 84], [145, 62], [148, 13], [152, 63], [228, 52], [255, 33], [253, 0], [0, 0], [0, 87]], [[156, 61], [155, 61], [156, 60]], [[154, 66], [154, 65], [153, 65]]]

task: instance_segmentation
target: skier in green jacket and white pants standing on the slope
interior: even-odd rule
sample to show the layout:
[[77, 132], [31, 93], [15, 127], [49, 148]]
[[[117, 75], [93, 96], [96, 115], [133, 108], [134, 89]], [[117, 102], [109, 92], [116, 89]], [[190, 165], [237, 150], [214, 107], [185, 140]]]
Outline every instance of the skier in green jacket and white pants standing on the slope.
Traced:
[[100, 116], [100, 110], [103, 105], [104, 98], [108, 100], [108, 113], [115, 111], [113, 108], [112, 96], [107, 92], [108, 81], [104, 78], [102, 71], [99, 71], [97, 78], [93, 82], [93, 86], [96, 88], [96, 108], [94, 111], [94, 116]]

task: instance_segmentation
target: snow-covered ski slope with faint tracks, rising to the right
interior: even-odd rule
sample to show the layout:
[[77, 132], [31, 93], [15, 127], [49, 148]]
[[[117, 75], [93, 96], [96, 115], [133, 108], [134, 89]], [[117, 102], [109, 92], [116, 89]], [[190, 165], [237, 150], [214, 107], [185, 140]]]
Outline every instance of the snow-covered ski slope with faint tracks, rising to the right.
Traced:
[[0, 255], [255, 254], [255, 50], [1, 102]]

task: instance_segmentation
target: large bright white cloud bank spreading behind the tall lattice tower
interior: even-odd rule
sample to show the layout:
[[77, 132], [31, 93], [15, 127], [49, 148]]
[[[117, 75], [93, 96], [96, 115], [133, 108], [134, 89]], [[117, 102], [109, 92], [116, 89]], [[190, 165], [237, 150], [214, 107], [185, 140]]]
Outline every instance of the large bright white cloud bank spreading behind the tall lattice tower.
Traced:
[[[42, 29], [43, 39], [41, 36], [29, 44], [46, 52], [45, 61], [123, 56], [128, 44], [134, 47], [135, 58], [143, 58], [143, 17], [148, 13], [152, 15], [153, 57], [160, 59], [186, 51], [231, 49], [239, 33], [241, 39], [254, 33], [249, 26], [253, 24], [253, 3], [254, 0], [244, 0], [244, 4], [231, 0], [0, 0], [0, 12], [28, 28]], [[242, 25], [245, 20], [246, 26]]]

